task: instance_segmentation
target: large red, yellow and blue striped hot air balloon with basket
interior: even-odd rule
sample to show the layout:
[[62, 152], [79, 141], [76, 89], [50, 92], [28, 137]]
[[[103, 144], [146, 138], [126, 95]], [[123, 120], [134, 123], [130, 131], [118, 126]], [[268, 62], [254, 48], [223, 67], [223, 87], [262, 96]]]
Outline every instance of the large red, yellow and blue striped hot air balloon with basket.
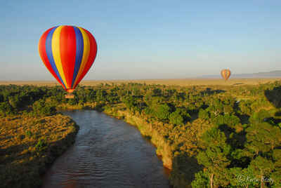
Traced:
[[[97, 44], [84, 28], [61, 25], [52, 27], [39, 40], [39, 54], [48, 71], [72, 93], [93, 65]], [[67, 95], [73, 98], [71, 94]]]

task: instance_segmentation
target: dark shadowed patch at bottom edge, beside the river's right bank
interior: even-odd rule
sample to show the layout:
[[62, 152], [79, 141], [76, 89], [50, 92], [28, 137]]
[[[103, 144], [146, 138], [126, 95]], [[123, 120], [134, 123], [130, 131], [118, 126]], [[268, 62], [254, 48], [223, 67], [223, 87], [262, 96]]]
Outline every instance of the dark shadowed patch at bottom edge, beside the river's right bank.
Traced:
[[197, 159], [188, 153], [181, 153], [174, 157], [169, 180], [173, 187], [191, 187], [195, 174], [203, 170]]

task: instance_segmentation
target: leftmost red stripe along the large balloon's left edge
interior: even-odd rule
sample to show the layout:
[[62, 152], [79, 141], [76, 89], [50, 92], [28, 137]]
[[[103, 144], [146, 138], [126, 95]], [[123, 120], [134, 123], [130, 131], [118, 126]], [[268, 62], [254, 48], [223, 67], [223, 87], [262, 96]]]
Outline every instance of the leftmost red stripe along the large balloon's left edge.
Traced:
[[[48, 71], [51, 72], [51, 74], [55, 77], [55, 79], [63, 86], [63, 83], [60, 81], [57, 74], [55, 74], [55, 72], [53, 71], [51, 63], [48, 61], [48, 55], [46, 53], [46, 38], [48, 36], [48, 33], [51, 31], [51, 29], [53, 29], [53, 27], [46, 30], [46, 32], [44, 32], [44, 34], [41, 36], [39, 40], [39, 45], [38, 45], [39, 55], [41, 56], [41, 59], [43, 60], [44, 65], [47, 67]], [[63, 86], [63, 88], [66, 90], [65, 86]]]

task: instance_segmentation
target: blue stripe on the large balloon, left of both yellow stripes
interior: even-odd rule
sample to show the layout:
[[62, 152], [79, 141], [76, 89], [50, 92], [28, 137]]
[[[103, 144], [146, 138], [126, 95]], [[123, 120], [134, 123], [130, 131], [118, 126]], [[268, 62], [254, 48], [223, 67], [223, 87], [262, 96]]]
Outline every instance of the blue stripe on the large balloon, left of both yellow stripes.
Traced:
[[[53, 68], [53, 71], [55, 72], [55, 74], [57, 74], [58, 79], [60, 79], [61, 83], [63, 83], [63, 79], [61, 79], [60, 73], [58, 72], [58, 68], [55, 65], [55, 60], [53, 60], [53, 52], [52, 52], [53, 32], [55, 32], [55, 29], [57, 29], [57, 27], [53, 27], [53, 29], [51, 29], [51, 31], [48, 32], [45, 45], [46, 45], [46, 53], [47, 53], [47, 56], [48, 56], [48, 61], [50, 62], [51, 67]], [[63, 83], [63, 86], [65, 86], [65, 83]]]

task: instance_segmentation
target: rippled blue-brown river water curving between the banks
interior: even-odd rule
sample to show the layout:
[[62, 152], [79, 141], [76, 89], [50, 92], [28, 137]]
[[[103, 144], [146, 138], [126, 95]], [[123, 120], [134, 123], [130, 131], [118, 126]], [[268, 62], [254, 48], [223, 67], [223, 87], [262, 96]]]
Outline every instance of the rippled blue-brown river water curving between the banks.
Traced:
[[91, 110], [63, 114], [80, 129], [74, 145], [47, 171], [42, 187], [169, 187], [155, 147], [137, 128]]

